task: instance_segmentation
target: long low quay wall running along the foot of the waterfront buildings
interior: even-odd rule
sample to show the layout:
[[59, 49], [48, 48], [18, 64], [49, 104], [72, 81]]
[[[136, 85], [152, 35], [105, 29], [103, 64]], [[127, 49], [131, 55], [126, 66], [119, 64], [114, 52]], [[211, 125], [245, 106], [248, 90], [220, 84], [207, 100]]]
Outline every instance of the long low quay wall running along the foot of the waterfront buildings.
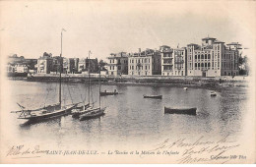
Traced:
[[[89, 76], [86, 74], [62, 74], [62, 82], [69, 83], [87, 83]], [[91, 74], [90, 81], [98, 83], [99, 75]], [[46, 75], [29, 75], [27, 78], [30, 82], [57, 82], [59, 81], [58, 74]], [[202, 78], [202, 77], [173, 77], [173, 76], [129, 76], [122, 75], [120, 77], [102, 76], [100, 75], [100, 82], [103, 84], [154, 84], [154, 85], [196, 85], [196, 86], [247, 86], [250, 81], [249, 77], [236, 76], [232, 77], [216, 77], [216, 78]]]

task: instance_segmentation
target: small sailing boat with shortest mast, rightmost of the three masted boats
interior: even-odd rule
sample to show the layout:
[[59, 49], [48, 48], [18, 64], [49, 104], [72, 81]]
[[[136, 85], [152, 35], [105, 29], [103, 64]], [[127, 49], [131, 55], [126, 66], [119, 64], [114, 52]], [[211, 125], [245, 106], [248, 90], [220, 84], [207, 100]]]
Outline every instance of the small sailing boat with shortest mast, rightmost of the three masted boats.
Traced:
[[[90, 57], [89, 57], [90, 59]], [[90, 62], [90, 61], [89, 61]], [[90, 68], [90, 65], [89, 65], [89, 68]], [[90, 74], [90, 69], [89, 69], [89, 74]], [[90, 76], [90, 75], [89, 75]], [[90, 78], [89, 78], [90, 79]], [[90, 83], [90, 82], [89, 82]], [[83, 120], [88, 120], [88, 119], [93, 119], [93, 118], [98, 118], [102, 115], [104, 115], [104, 110], [106, 109], [106, 107], [103, 107], [101, 108], [100, 107], [100, 87], [101, 87], [101, 84], [100, 84], [100, 67], [99, 67], [99, 78], [98, 78], [98, 87], [99, 87], [99, 90], [98, 90], [98, 96], [99, 96], [99, 107], [93, 107], [93, 106], [90, 106], [89, 108], [87, 108], [85, 111], [84, 111], [84, 114], [81, 114], [79, 116], [79, 119], [80, 121], [83, 121]], [[89, 87], [91, 88], [91, 87]], [[90, 90], [89, 90], [90, 91]], [[90, 97], [89, 97], [90, 98]]]

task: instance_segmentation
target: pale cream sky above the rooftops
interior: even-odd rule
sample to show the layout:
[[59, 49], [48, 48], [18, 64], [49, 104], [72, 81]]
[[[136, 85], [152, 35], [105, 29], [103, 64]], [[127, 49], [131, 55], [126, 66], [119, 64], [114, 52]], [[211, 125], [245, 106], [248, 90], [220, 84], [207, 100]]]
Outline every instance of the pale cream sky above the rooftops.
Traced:
[[255, 1], [1, 1], [0, 54], [43, 52], [105, 59], [160, 45], [183, 47], [216, 37], [255, 46]]

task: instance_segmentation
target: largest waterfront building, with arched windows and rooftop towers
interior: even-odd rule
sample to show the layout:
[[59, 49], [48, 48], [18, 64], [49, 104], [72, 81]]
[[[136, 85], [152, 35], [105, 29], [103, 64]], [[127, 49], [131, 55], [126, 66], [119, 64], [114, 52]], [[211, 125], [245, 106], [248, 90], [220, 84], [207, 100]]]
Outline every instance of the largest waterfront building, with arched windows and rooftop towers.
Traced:
[[238, 75], [238, 49], [213, 37], [202, 39], [202, 46], [187, 45], [187, 75], [220, 77]]

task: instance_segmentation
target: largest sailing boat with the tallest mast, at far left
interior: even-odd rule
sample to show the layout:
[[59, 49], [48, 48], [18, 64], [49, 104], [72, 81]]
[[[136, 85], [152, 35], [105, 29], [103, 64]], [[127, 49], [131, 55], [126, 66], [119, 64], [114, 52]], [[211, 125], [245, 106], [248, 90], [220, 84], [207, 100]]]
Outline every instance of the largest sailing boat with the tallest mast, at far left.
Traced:
[[[61, 54], [60, 58], [62, 56], [62, 31], [65, 29], [61, 30]], [[37, 109], [25, 109], [24, 106], [18, 103], [18, 105], [21, 107], [21, 112], [20, 116], [18, 119], [26, 119], [29, 121], [43, 121], [43, 120], [48, 120], [52, 118], [59, 118], [64, 115], [68, 115], [71, 113], [72, 109], [75, 108], [77, 104], [70, 104], [70, 105], [65, 105], [61, 106], [61, 69], [62, 69], [62, 61], [60, 61], [60, 75], [59, 75], [59, 103], [53, 104], [53, 105], [47, 105], [41, 108]]]

